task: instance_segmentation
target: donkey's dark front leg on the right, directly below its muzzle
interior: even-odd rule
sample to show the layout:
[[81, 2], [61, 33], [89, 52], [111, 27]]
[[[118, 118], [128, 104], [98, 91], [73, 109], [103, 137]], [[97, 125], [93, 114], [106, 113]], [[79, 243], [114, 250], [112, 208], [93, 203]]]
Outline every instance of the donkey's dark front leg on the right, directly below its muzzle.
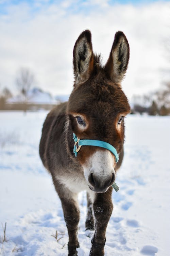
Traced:
[[112, 187], [109, 187], [105, 193], [96, 193], [93, 204], [96, 226], [94, 237], [91, 240], [92, 246], [89, 256], [104, 255], [106, 228], [113, 211], [112, 190]]

